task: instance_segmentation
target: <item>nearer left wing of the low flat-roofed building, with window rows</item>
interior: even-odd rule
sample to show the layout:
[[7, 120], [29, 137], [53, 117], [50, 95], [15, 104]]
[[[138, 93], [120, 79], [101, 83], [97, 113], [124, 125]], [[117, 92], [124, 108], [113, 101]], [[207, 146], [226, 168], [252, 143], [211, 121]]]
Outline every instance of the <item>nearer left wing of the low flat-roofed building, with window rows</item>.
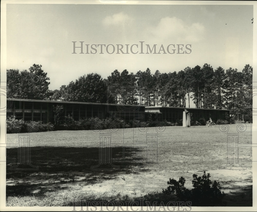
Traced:
[[145, 107], [143, 105], [122, 105], [122, 104], [103, 104], [86, 102], [67, 102], [52, 100], [31, 100], [31, 99], [8, 99], [7, 98], [7, 116], [15, 115], [17, 119], [24, 121], [42, 121], [44, 123], [52, 122], [54, 107], [62, 106], [60, 114], [60, 123], [64, 123], [65, 116], [70, 115], [74, 120], [79, 118], [98, 117], [104, 119], [115, 115], [115, 117], [124, 120], [132, 120], [135, 117], [141, 117], [138, 120], [144, 120]]

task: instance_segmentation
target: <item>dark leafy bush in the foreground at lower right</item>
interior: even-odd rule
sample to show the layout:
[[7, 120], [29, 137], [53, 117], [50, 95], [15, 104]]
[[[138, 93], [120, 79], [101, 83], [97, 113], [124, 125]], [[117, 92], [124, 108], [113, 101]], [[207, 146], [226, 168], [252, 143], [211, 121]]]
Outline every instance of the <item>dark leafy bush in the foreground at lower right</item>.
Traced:
[[192, 206], [224, 206], [222, 202], [225, 194], [221, 192], [219, 182], [210, 180], [210, 174], [204, 172], [202, 177], [197, 177], [193, 174], [192, 185], [193, 189], [187, 189], [185, 178], [180, 177], [179, 181], [171, 179], [167, 182], [167, 189], [162, 189], [166, 195], [175, 195], [176, 201], [191, 201]]

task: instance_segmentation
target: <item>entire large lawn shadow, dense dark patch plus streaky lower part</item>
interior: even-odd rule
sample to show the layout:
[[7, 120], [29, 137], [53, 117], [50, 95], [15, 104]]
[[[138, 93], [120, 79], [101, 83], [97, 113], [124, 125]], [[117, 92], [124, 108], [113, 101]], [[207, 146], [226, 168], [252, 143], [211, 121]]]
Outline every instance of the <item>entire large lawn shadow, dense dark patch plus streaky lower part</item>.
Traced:
[[[6, 150], [10, 158], [18, 157], [18, 148]], [[137, 154], [138, 153], [138, 154]], [[63, 148], [63, 147], [31, 147], [31, 165], [38, 166], [38, 170], [12, 170], [17, 163], [6, 163], [6, 196], [44, 195], [47, 191], [63, 189], [65, 185], [82, 183], [93, 185], [105, 180], [114, 179], [119, 174], [139, 174], [132, 170], [134, 166], [143, 166], [145, 160], [131, 160], [134, 156], [143, 155], [142, 149], [112, 148], [112, 158], [121, 159], [113, 162], [119, 169], [96, 169], [92, 166], [99, 164], [99, 148]], [[122, 161], [123, 160], [123, 161]], [[19, 168], [30, 168], [19, 164]], [[148, 171], [148, 170], [140, 170]]]

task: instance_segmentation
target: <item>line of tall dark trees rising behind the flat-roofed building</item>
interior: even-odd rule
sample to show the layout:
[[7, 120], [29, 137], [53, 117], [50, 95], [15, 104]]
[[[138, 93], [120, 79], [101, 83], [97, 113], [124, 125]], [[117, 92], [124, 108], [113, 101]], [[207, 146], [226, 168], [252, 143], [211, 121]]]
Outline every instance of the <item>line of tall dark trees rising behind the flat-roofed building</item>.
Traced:
[[[136, 74], [114, 70], [107, 79], [90, 73], [54, 91], [48, 89], [50, 79], [41, 68], [33, 64], [29, 71], [7, 70], [7, 86], [19, 86], [22, 99], [169, 107], [186, 107], [188, 102], [189, 107], [228, 109], [233, 115], [252, 110], [253, 69], [249, 64], [242, 71], [214, 70], [207, 63], [169, 73], [156, 70], [153, 74], [149, 68]], [[190, 105], [190, 99], [195, 105]]]

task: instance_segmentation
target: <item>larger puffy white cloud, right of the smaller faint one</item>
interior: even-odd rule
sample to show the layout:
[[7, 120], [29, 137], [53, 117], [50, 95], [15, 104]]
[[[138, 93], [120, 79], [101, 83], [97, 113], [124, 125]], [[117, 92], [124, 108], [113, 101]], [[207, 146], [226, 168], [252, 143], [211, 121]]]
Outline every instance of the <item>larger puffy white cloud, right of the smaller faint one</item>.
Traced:
[[165, 17], [157, 26], [150, 27], [154, 39], [181, 42], [199, 42], [204, 35], [205, 27], [201, 23], [187, 24], [176, 17]]

